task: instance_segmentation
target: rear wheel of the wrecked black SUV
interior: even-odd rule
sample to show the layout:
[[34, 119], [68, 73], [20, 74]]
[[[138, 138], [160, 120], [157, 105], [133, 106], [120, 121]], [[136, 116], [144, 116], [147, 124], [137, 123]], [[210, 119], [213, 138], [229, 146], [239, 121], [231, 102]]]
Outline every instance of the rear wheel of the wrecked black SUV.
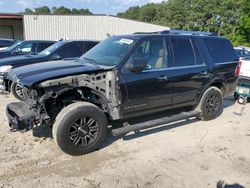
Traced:
[[221, 111], [223, 105], [223, 95], [219, 88], [210, 87], [203, 94], [197, 110], [200, 114], [197, 115], [198, 119], [209, 121], [217, 118]]

